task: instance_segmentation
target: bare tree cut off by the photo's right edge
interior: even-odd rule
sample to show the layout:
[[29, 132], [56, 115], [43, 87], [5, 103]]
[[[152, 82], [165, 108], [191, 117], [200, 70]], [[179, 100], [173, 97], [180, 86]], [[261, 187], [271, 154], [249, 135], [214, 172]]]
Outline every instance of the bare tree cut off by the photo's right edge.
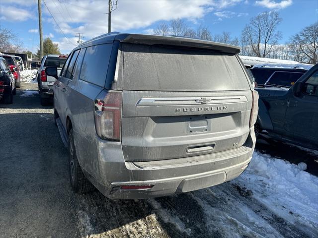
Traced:
[[308, 63], [318, 63], [318, 22], [305, 27], [291, 38], [299, 53], [306, 56]]

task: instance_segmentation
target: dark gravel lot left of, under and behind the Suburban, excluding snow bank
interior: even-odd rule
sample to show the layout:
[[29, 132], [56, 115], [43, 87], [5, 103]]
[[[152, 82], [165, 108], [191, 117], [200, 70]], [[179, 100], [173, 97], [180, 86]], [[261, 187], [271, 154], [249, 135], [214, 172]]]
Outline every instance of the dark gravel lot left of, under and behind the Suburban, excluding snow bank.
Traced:
[[[37, 85], [21, 89], [36, 91]], [[229, 231], [238, 238], [314, 237], [235, 182], [136, 201], [112, 201], [98, 191], [75, 194], [52, 107], [40, 106], [38, 94], [22, 94], [17, 91], [12, 105], [0, 104], [1, 238], [226, 238]], [[298, 150], [289, 150], [296, 158]]]

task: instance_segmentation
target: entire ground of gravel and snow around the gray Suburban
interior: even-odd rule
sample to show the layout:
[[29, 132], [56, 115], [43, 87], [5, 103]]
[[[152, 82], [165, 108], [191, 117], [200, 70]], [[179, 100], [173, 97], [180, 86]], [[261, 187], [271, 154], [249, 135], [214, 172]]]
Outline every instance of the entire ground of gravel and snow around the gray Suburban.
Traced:
[[[36, 90], [32, 85], [27, 87]], [[75, 194], [67, 151], [49, 122], [52, 108], [41, 107], [31, 91], [18, 90], [14, 97], [12, 105], [0, 105], [3, 237], [318, 237], [318, 177], [313, 175], [318, 163], [306, 161], [315, 167], [309, 174], [304, 163], [286, 161], [300, 155], [315, 160], [318, 151], [291, 146], [278, 159], [258, 150], [239, 178], [174, 196], [125, 201], [98, 191]]]

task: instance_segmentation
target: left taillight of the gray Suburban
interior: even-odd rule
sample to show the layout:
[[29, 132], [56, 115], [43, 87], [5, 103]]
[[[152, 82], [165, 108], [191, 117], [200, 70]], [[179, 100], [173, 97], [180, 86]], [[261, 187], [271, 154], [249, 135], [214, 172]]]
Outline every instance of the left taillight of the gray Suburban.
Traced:
[[97, 135], [102, 139], [120, 140], [121, 91], [108, 91], [104, 99], [94, 103], [94, 119]]

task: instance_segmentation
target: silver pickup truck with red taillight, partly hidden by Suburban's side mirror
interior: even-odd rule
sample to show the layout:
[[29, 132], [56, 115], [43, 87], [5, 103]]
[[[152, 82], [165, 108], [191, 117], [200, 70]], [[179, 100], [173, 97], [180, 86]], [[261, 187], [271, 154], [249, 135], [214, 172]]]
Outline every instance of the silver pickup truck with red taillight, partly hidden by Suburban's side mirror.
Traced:
[[40, 68], [37, 72], [38, 87], [40, 93], [41, 105], [46, 106], [50, 101], [53, 101], [53, 84], [55, 78], [47, 76], [45, 73], [46, 67], [57, 67], [58, 73], [66, 61], [67, 57], [64, 55], [46, 55], [42, 58]]

